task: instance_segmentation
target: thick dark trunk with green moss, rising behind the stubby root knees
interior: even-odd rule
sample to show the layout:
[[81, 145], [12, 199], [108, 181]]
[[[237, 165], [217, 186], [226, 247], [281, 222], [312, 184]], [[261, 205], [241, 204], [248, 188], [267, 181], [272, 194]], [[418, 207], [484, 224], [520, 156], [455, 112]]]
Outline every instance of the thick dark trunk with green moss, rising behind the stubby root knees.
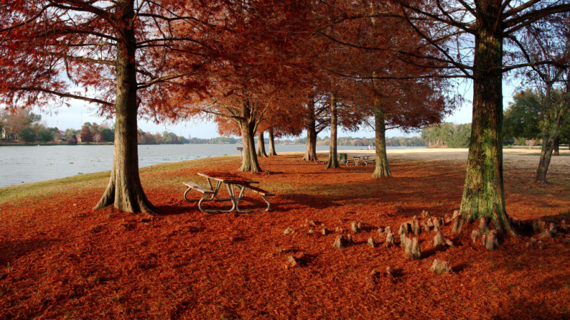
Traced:
[[502, 154], [502, 28], [494, 26], [500, 1], [476, 1], [473, 117], [467, 174], [461, 199], [465, 220], [486, 216], [514, 235], [504, 207]]

